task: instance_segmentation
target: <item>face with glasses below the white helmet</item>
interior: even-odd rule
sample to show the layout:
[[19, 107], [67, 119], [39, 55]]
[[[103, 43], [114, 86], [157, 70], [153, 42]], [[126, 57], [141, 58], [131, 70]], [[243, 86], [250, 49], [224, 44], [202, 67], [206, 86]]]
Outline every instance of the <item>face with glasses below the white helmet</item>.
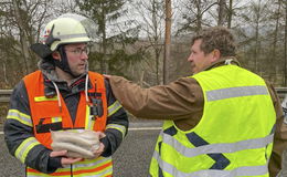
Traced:
[[65, 45], [67, 62], [74, 75], [85, 73], [87, 66], [87, 45], [86, 43], [75, 43]]

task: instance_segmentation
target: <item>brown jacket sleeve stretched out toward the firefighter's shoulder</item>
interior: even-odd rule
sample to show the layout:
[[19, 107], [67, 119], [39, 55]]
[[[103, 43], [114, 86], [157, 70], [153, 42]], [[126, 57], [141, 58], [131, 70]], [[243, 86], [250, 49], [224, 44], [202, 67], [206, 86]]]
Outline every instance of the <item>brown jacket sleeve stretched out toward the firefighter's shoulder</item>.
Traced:
[[111, 76], [109, 82], [116, 98], [136, 117], [178, 121], [199, 119], [202, 115], [203, 93], [194, 79], [182, 77], [149, 88], [121, 76]]

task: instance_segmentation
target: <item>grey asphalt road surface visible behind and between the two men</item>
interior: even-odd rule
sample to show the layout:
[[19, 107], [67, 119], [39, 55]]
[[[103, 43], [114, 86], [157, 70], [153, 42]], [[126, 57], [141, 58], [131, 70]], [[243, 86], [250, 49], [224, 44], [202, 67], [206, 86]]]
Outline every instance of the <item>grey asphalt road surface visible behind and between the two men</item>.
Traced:
[[[158, 126], [158, 124], [151, 124]], [[114, 154], [114, 177], [147, 177], [149, 163], [159, 129], [135, 129], [132, 126], [121, 146]], [[153, 127], [155, 127], [153, 126]], [[7, 149], [0, 135], [0, 177], [24, 177], [24, 166]]]

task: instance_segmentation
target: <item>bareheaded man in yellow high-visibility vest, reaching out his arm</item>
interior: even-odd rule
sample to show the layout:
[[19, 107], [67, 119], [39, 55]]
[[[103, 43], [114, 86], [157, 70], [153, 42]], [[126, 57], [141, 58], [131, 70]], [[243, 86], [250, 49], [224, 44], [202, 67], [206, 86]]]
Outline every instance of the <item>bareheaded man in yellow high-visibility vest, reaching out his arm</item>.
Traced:
[[241, 66], [234, 37], [223, 27], [194, 35], [188, 61], [193, 75], [168, 85], [141, 88], [107, 75], [127, 111], [164, 121], [150, 176], [275, 177], [287, 125], [274, 87]]

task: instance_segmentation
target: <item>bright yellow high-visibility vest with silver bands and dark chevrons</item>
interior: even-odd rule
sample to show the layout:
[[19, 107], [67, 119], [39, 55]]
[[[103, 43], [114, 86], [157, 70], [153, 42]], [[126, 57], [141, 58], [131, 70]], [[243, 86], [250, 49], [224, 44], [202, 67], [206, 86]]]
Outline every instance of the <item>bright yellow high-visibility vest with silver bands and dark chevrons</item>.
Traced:
[[235, 65], [192, 77], [203, 91], [203, 116], [185, 132], [164, 122], [150, 175], [268, 177], [276, 114], [264, 80]]

